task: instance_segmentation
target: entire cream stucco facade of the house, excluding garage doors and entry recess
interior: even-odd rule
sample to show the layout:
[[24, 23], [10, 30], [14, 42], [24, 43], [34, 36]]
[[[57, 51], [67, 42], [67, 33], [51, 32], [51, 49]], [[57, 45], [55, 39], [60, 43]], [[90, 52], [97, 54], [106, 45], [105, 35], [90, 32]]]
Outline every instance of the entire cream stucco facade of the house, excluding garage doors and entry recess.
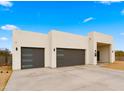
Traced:
[[[115, 60], [113, 38], [109, 35], [92, 32], [80, 36], [52, 30], [46, 34], [13, 31], [13, 69], [21, 69], [21, 47], [38, 47], [45, 49], [45, 67], [56, 68], [56, 48], [85, 49], [85, 64], [97, 64], [94, 56], [97, 42], [110, 44], [110, 61]], [[16, 51], [16, 47], [18, 51]], [[54, 51], [55, 49], [55, 51]], [[112, 52], [113, 51], [113, 52]]]

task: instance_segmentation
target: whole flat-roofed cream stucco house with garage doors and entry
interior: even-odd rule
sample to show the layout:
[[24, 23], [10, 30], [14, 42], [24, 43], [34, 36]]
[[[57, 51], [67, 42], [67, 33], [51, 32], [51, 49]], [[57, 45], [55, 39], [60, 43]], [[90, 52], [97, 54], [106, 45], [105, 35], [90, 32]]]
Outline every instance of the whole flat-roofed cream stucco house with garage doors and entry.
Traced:
[[56, 30], [48, 34], [13, 31], [13, 69], [63, 67], [115, 61], [112, 36], [80, 36]]

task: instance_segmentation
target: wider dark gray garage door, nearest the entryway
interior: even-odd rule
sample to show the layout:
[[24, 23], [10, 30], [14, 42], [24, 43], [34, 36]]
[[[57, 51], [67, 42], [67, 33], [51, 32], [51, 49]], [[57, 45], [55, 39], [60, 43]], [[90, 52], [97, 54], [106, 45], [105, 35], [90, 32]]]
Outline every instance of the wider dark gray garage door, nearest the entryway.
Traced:
[[85, 50], [57, 48], [57, 67], [85, 64]]

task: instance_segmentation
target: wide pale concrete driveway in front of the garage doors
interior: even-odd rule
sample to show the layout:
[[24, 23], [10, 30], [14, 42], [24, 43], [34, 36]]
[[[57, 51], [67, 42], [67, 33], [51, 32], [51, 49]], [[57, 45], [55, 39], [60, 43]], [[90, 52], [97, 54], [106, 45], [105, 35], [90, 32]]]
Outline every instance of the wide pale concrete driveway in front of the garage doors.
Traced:
[[5, 90], [124, 90], [124, 71], [93, 65], [20, 70]]

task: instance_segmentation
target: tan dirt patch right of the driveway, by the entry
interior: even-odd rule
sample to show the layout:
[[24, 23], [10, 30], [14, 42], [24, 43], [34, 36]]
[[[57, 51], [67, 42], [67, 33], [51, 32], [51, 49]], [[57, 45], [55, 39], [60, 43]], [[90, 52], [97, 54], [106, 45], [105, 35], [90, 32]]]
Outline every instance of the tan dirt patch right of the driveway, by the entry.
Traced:
[[124, 70], [124, 61], [116, 61], [111, 64], [103, 64], [102, 67], [117, 69], [117, 70]]

